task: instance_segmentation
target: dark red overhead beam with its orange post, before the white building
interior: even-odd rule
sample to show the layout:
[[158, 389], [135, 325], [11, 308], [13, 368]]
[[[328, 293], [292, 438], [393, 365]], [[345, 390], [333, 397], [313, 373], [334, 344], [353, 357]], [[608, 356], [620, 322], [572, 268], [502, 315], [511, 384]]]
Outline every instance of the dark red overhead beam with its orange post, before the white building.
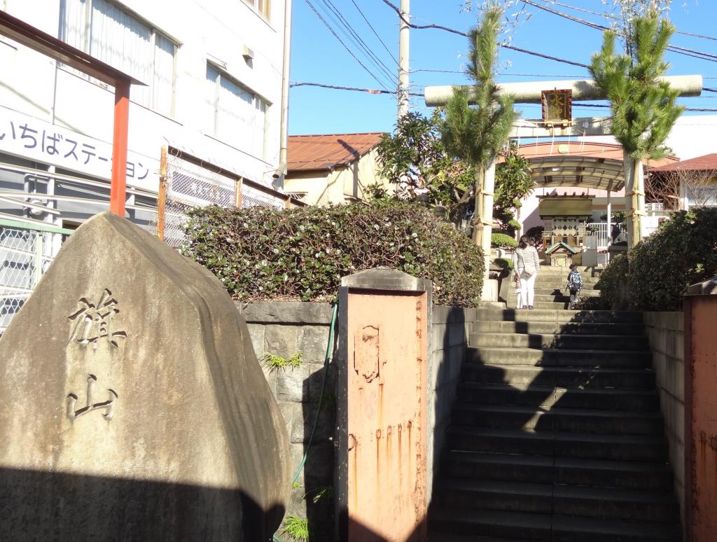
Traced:
[[110, 211], [125, 216], [127, 199], [127, 138], [129, 133], [130, 85], [145, 85], [134, 77], [105, 64], [86, 52], [42, 32], [6, 11], [0, 11], [0, 34], [80, 70], [95, 79], [115, 87], [115, 118], [112, 138], [112, 179], [110, 181]]

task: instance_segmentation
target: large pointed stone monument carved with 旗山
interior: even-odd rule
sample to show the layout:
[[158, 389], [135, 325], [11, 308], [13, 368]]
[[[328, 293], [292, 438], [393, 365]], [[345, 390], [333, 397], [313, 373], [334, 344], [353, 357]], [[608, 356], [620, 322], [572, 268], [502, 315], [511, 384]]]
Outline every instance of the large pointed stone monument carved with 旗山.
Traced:
[[0, 539], [270, 541], [285, 423], [214, 275], [82, 225], [0, 338]]

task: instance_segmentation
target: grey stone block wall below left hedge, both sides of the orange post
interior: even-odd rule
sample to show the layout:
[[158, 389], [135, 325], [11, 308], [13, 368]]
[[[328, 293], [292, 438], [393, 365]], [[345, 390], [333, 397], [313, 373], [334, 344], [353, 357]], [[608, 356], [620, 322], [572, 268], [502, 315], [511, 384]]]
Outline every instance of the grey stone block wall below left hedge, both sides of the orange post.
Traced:
[[[267, 381], [275, 394], [290, 435], [292, 474], [296, 471], [308, 444], [311, 425], [323, 380], [323, 358], [331, 324], [328, 303], [273, 302], [237, 303], [247, 319], [257, 358], [264, 353], [293, 356], [300, 352], [303, 364], [298, 369], [268, 371]], [[434, 305], [429, 329], [428, 412], [427, 412], [427, 495], [440, 462], [445, 431], [455, 401], [465, 347], [475, 309]], [[314, 443], [310, 448], [300, 488], [292, 490], [288, 514], [308, 517], [318, 531], [317, 540], [331, 540], [333, 522], [331, 497], [313, 503], [315, 488], [333, 482], [333, 407], [335, 406], [336, 370], [329, 366], [324, 407], [319, 417]], [[325, 533], [328, 538], [320, 538]]]

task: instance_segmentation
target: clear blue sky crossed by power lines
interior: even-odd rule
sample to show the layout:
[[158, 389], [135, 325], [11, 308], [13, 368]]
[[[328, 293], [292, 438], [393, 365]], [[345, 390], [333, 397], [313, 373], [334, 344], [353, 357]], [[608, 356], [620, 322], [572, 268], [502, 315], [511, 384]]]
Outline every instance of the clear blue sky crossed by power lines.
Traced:
[[[392, 0], [395, 5], [399, 0]], [[351, 54], [338, 42], [318, 16], [310, 9], [313, 4], [319, 13], [331, 24], [334, 31], [351, 48], [359, 60], [379, 79], [359, 65]], [[557, 0], [558, 4], [575, 6], [589, 11], [604, 12], [600, 0]], [[374, 31], [364, 20], [374, 27]], [[602, 16], [569, 9], [552, 4], [551, 0], [533, 0], [551, 9], [571, 14], [579, 19], [606, 25]], [[291, 58], [292, 82], [318, 82], [328, 85], [361, 87], [369, 89], [388, 88], [395, 90], [398, 57], [398, 16], [382, 0], [293, 0], [293, 36]], [[368, 55], [351, 42], [348, 30], [338, 23], [338, 15], [331, 11], [335, 6], [343, 19], [356, 34], [364, 40], [368, 49], [376, 54], [385, 68], [371, 63]], [[441, 24], [465, 32], [475, 26], [475, 13], [462, 11], [461, 0], [411, 0], [412, 22], [415, 24]], [[511, 32], [511, 43], [516, 47], [531, 49], [554, 57], [589, 64], [590, 55], [602, 44], [602, 33], [582, 24], [571, 22], [554, 14], [546, 13], [533, 6], [518, 3], [530, 18]], [[509, 11], [516, 11], [516, 8]], [[714, 22], [717, 20], [716, 0], [674, 0], [670, 14], [678, 30], [705, 36], [715, 36]], [[467, 82], [460, 73], [464, 68], [467, 39], [436, 29], [412, 29], [410, 31], [410, 61], [412, 92], [422, 92], [426, 85], [451, 85]], [[672, 65], [670, 75], [701, 74], [706, 78], [705, 87], [717, 89], [717, 39], [703, 39], [684, 34], [675, 34], [672, 44], [688, 49], [707, 52], [716, 56], [716, 62], [699, 60], [682, 54], [668, 53]], [[392, 56], [391, 56], [392, 55]], [[528, 54], [501, 49], [499, 82], [526, 80], [553, 80], [559, 75], [587, 77], [584, 68], [533, 57]], [[384, 73], [385, 71], [388, 73]], [[415, 71], [418, 70], [418, 71]], [[428, 72], [420, 70], [455, 70], [450, 72]], [[519, 75], [520, 74], [520, 75]], [[523, 77], [523, 74], [531, 77]], [[536, 77], [545, 75], [546, 77]], [[383, 86], [382, 86], [383, 85]], [[685, 98], [690, 108], [717, 108], [717, 92], [703, 92], [701, 98]], [[540, 116], [539, 105], [521, 106], [523, 118]], [[412, 110], [429, 114], [422, 98], [412, 99]], [[579, 110], [575, 115], [599, 115], [599, 109]], [[689, 113], [688, 113], [689, 114]], [[707, 114], [707, 113], [698, 113]], [[717, 115], [717, 112], [713, 113]], [[310, 133], [351, 133], [390, 131], [396, 122], [397, 105], [393, 95], [372, 95], [367, 92], [328, 90], [317, 87], [293, 87], [290, 92], [289, 132]], [[716, 117], [717, 119], [717, 117]]]

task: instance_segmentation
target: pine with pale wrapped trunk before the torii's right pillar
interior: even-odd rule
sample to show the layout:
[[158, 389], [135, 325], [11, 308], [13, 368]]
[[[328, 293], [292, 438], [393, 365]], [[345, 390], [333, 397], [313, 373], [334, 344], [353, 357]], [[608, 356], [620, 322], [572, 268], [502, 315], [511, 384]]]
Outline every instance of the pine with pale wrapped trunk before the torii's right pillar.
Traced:
[[645, 208], [642, 161], [665, 156], [663, 143], [684, 108], [677, 105], [679, 92], [660, 80], [670, 65], [665, 49], [675, 32], [656, 11], [638, 17], [626, 37], [631, 54], [615, 52], [616, 34], [604, 34], [602, 49], [592, 57], [590, 72], [610, 101], [611, 132], [622, 145], [627, 201], [627, 236], [632, 247], [641, 235], [640, 214]]

